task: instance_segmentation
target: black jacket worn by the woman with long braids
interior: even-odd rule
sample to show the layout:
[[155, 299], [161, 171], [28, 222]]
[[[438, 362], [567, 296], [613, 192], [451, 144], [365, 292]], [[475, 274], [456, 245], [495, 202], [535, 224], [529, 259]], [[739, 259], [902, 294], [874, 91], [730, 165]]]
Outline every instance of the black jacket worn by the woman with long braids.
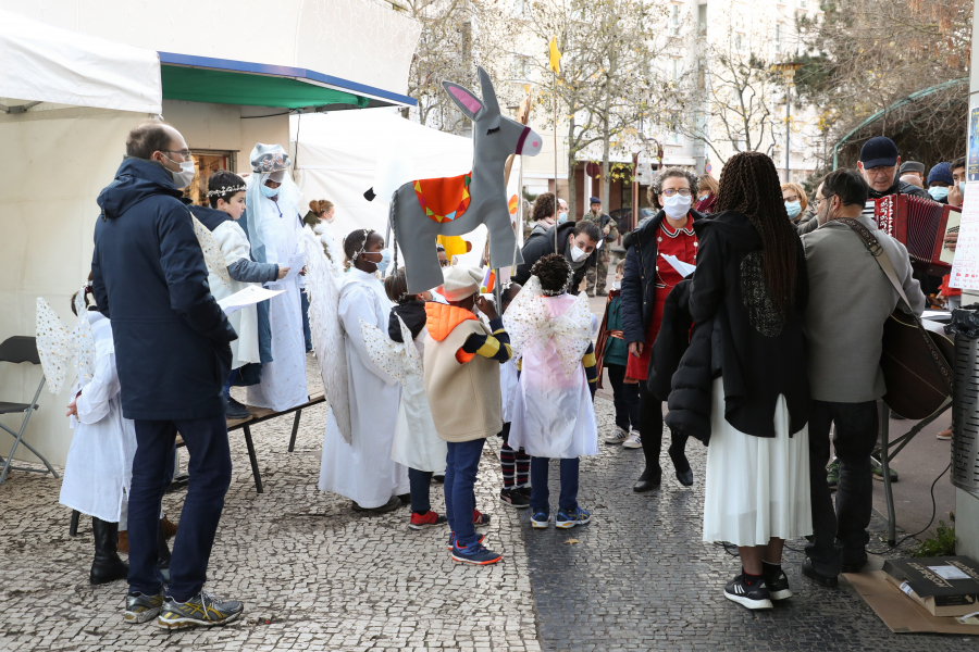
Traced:
[[697, 222], [694, 229], [699, 247], [690, 291], [690, 316], [698, 328], [714, 322], [711, 378], [723, 377], [724, 418], [746, 435], [774, 437], [776, 404], [784, 394], [789, 431], [798, 432], [809, 418], [802, 321], [809, 284], [802, 241], [793, 231], [795, 302], [782, 315], [765, 285], [761, 236], [745, 215], [724, 211]]

